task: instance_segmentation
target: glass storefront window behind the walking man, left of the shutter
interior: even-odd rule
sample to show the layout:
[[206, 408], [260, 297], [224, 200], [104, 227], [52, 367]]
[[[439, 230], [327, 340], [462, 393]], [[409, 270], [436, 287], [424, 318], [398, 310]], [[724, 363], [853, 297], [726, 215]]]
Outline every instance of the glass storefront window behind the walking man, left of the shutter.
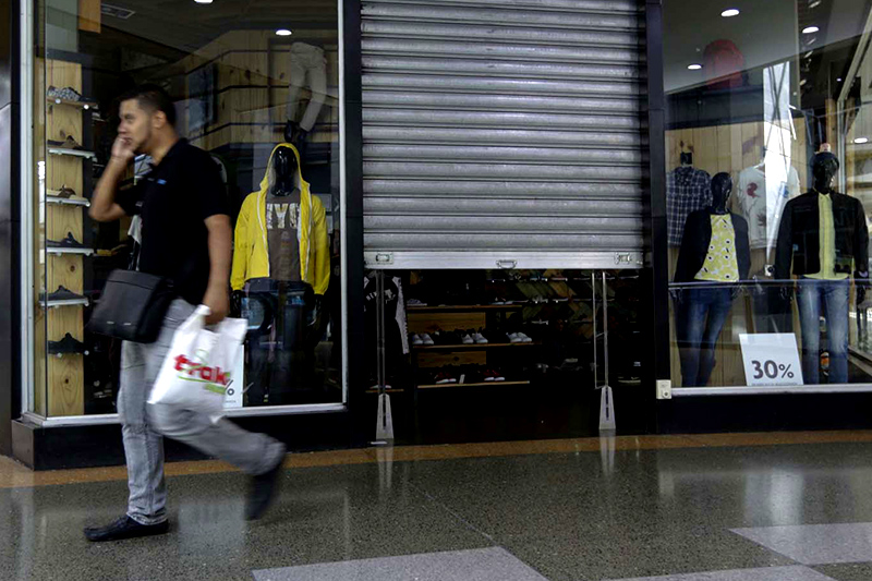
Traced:
[[[344, 401], [338, 9], [294, 0], [257, 10], [34, 5], [31, 411], [116, 412], [120, 341], [89, 332], [87, 322], [109, 273], [135, 264], [148, 226], [135, 217], [98, 223], [87, 208], [117, 135], [117, 99], [144, 83], [171, 96], [179, 136], [210, 154], [225, 186], [214, 195], [231, 208], [231, 316], [247, 319], [249, 335], [237, 372], [244, 380], [226, 407]], [[280, 167], [282, 157], [296, 169]], [[136, 158], [122, 191], [149, 161]], [[249, 239], [263, 244], [240, 254]]]

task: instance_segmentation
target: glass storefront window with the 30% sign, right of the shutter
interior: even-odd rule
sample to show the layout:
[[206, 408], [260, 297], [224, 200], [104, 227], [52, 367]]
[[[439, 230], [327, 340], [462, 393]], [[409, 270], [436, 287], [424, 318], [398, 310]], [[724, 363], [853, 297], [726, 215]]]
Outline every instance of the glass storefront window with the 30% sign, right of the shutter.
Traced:
[[674, 386], [872, 383], [869, 13], [664, 2]]

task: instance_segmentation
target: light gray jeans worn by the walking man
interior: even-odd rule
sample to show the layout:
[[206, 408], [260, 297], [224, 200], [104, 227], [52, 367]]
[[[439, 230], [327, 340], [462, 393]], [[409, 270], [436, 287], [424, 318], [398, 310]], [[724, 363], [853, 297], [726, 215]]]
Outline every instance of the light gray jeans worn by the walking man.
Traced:
[[249, 474], [263, 474], [284, 456], [284, 445], [246, 432], [229, 420], [211, 423], [206, 414], [146, 401], [169, 352], [175, 329], [194, 312], [181, 299], [172, 302], [154, 343], [124, 341], [118, 413], [128, 460], [128, 516], [142, 524], [167, 520], [164, 436], [178, 439]]

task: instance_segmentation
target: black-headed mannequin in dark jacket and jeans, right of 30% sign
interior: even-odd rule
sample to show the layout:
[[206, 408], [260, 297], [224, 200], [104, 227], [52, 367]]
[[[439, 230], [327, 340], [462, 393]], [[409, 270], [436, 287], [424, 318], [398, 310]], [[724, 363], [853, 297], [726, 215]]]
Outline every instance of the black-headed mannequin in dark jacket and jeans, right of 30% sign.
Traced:
[[807, 385], [821, 383], [821, 315], [826, 319], [829, 383], [848, 382], [851, 270], [858, 279], [868, 278], [865, 211], [859, 199], [832, 189], [838, 167], [838, 159], [828, 152], [814, 156], [814, 187], [787, 203], [778, 228], [775, 276], [785, 281], [791, 275], [799, 277], [797, 306]]

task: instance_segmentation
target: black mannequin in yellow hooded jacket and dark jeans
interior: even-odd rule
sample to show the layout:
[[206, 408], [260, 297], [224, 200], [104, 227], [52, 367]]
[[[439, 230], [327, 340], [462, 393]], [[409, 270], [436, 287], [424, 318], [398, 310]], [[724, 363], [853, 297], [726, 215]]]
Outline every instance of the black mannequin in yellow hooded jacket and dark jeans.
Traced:
[[231, 286], [244, 289], [249, 318], [247, 406], [295, 403], [311, 387], [317, 343], [313, 294], [329, 286], [324, 205], [310, 192], [289, 144], [270, 155], [261, 190], [237, 221]]

